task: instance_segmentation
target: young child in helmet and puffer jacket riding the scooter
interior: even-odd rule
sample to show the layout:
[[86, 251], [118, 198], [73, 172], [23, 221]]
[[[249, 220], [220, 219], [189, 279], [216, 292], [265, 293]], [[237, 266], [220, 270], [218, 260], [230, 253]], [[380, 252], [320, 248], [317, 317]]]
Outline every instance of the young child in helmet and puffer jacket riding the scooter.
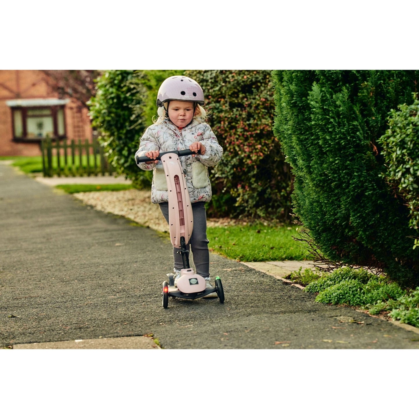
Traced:
[[[209, 250], [205, 202], [212, 191], [208, 166], [215, 166], [222, 157], [222, 147], [211, 127], [206, 123], [204, 92], [199, 84], [185, 76], [172, 76], [163, 81], [157, 95], [158, 119], [148, 127], [141, 138], [135, 155], [156, 159], [159, 152], [188, 149], [200, 154], [179, 157], [191, 199], [194, 228], [187, 249], [191, 249], [195, 272], [205, 278], [207, 288], [212, 287], [209, 277]], [[168, 191], [163, 165], [159, 160], [139, 163], [143, 170], [153, 170], [151, 201], [169, 222]], [[183, 269], [179, 249], [173, 247], [173, 267], [176, 279]], [[215, 292], [206, 297], [217, 297]]]

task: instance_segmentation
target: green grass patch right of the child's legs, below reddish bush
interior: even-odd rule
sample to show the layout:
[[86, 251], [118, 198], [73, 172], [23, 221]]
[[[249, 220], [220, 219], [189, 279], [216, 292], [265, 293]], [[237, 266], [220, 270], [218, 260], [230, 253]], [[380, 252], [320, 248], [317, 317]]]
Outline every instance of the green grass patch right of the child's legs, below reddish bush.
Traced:
[[209, 248], [243, 262], [304, 260], [308, 249], [293, 240], [295, 225], [268, 227], [263, 224], [208, 227]]

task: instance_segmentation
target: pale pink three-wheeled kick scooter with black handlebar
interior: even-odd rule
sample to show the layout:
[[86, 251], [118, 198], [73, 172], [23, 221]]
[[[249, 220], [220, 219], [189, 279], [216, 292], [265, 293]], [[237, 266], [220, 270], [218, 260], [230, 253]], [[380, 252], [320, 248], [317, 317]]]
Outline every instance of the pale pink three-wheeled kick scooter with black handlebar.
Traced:
[[179, 156], [186, 156], [195, 153], [191, 150], [174, 150], [160, 153], [157, 159], [150, 159], [146, 156], [135, 156], [136, 163], [145, 163], [154, 160], [161, 160], [164, 173], [166, 174], [167, 189], [169, 196], [169, 231], [171, 243], [175, 248], [180, 249], [178, 253], [182, 256], [184, 269], [174, 284], [174, 275], [167, 274], [168, 281], [163, 282], [163, 308], [167, 308], [169, 295], [173, 298], [187, 298], [194, 300], [205, 295], [216, 292], [220, 303], [224, 303], [224, 291], [220, 277], [215, 277], [215, 287], [206, 288], [205, 279], [194, 272], [189, 266], [189, 251], [186, 243], [192, 235], [194, 228], [194, 217], [192, 215], [191, 200], [183, 174]]

